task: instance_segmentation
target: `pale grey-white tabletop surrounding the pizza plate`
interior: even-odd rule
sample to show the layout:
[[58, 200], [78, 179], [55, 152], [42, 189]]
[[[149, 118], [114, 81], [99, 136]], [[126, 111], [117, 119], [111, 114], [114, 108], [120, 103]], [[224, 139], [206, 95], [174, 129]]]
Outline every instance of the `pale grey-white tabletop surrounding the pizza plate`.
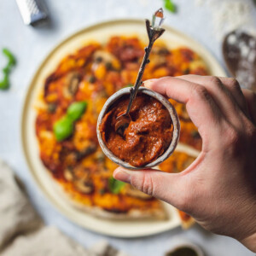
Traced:
[[[244, 0], [249, 1], [249, 0]], [[166, 24], [195, 38], [223, 64], [220, 42], [212, 32], [211, 11], [198, 7], [192, 0], [176, 1], [177, 15], [168, 14]], [[0, 49], [7, 46], [18, 59], [11, 76], [11, 89], [0, 91], [0, 158], [6, 160], [21, 180], [34, 207], [46, 224], [57, 226], [68, 236], [89, 247], [102, 239], [130, 255], [163, 255], [174, 239], [186, 238], [200, 245], [209, 256], [249, 256], [240, 243], [224, 236], [215, 236], [196, 226], [190, 230], [170, 230], [157, 236], [136, 239], [119, 239], [102, 236], [64, 218], [47, 201], [26, 166], [20, 143], [20, 112], [26, 88], [45, 55], [73, 32], [102, 20], [114, 18], [147, 18], [162, 4], [161, 0], [55, 0], [46, 1], [51, 23], [33, 28], [25, 26], [20, 18], [15, 0], [0, 0]], [[0, 58], [3, 67], [5, 59]], [[0, 220], [1, 227], [1, 220]]]

